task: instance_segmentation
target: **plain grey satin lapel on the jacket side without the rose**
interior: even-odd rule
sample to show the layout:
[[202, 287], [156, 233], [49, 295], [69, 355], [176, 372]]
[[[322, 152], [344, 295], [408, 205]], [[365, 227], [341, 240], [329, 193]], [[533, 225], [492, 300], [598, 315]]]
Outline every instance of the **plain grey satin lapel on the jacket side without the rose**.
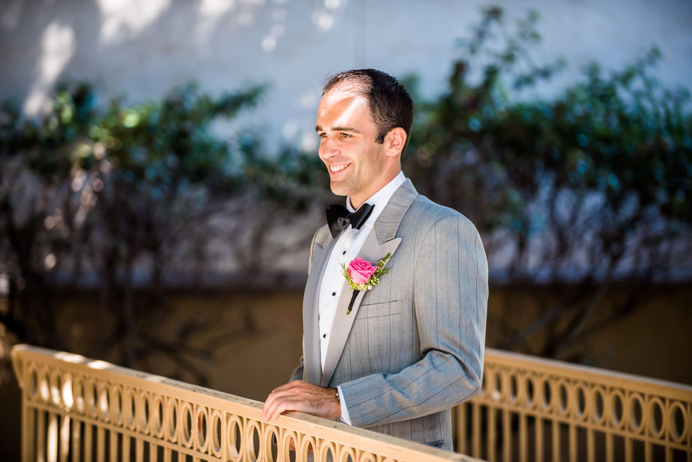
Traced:
[[303, 367], [305, 369], [305, 381], [314, 385], [319, 385], [322, 380], [320, 326], [317, 319], [320, 284], [334, 243], [336, 243], [336, 239], [331, 235], [324, 248], [319, 242], [315, 243], [311, 270], [303, 293], [303, 338], [305, 342]]

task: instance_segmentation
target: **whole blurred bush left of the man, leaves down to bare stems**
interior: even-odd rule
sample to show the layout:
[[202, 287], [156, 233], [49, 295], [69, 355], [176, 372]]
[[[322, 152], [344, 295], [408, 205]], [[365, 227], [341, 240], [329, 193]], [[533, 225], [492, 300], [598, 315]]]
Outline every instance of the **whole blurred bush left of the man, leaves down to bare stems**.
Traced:
[[[257, 251], [272, 254], [262, 245], [268, 230], [307, 210], [319, 183], [317, 156], [289, 147], [272, 155], [252, 127], [228, 138], [214, 133], [214, 122], [238, 118], [267, 89], [247, 85], [212, 97], [190, 82], [161, 100], [126, 104], [122, 96], [100, 101], [89, 83], [61, 82], [39, 118], [2, 102], [0, 274], [9, 280], [9, 311], [0, 323], [7, 331], [62, 349], [57, 294], [91, 284], [100, 295], [91, 320], [101, 333], [96, 355], [134, 364], [161, 351], [203, 383], [186, 354], [210, 360], [220, 345], [190, 345], [207, 328], [198, 320], [181, 326], [176, 344], [161, 340], [156, 316], [171, 308], [165, 285], [194, 286], [217, 263], [215, 240], [230, 244], [248, 276], [262, 270], [262, 257], [275, 257]], [[176, 272], [179, 279], [166, 280]], [[229, 342], [253, 333], [252, 323], [229, 329]]]

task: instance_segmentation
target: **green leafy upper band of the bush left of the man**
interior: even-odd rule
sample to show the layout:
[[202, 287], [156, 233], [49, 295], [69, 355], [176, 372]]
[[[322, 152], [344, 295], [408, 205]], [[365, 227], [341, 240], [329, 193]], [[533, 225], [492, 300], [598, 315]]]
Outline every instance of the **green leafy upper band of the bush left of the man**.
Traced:
[[[5, 158], [21, 156], [42, 181], [55, 184], [82, 171], [104, 179], [106, 192], [124, 188], [135, 203], [143, 197], [184, 196], [196, 185], [208, 192], [235, 192], [278, 174], [271, 171], [275, 165], [286, 167], [281, 172], [288, 172], [288, 183], [287, 178], [303, 175], [289, 168], [295, 155], [289, 159], [284, 152], [271, 159], [249, 129], [238, 133], [233, 147], [210, 130], [215, 120], [233, 119], [254, 107], [267, 88], [250, 86], [215, 99], [190, 82], [161, 101], [126, 106], [124, 98], [114, 98], [102, 111], [90, 84], [71, 88], [61, 82], [51, 111], [39, 123], [22, 118], [14, 100], [2, 103], [0, 152]], [[277, 182], [271, 183], [269, 194], [278, 198]]]

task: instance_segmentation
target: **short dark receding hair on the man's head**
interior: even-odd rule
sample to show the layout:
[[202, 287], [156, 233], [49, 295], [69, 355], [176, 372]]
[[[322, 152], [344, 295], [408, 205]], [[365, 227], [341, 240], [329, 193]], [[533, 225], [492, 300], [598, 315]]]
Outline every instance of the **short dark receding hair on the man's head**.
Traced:
[[413, 127], [413, 100], [397, 79], [376, 69], [354, 69], [328, 77], [322, 87], [324, 96], [337, 86], [367, 99], [372, 119], [377, 127], [375, 142], [382, 144], [390, 130], [401, 127], [406, 131], [406, 142], [399, 160], [403, 160]]

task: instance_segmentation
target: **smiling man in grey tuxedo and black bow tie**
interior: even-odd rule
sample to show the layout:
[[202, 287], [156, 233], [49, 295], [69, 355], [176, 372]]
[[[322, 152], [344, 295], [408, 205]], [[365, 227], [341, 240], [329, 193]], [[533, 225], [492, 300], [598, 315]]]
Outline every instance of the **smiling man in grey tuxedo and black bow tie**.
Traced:
[[[401, 172], [412, 125], [406, 89], [381, 71], [345, 71], [322, 90], [318, 154], [346, 207], [332, 205], [312, 239], [303, 355], [265, 421], [295, 410], [453, 450], [450, 407], [481, 385], [488, 265], [473, 223]], [[388, 252], [388, 272], [347, 313], [341, 264]]]

